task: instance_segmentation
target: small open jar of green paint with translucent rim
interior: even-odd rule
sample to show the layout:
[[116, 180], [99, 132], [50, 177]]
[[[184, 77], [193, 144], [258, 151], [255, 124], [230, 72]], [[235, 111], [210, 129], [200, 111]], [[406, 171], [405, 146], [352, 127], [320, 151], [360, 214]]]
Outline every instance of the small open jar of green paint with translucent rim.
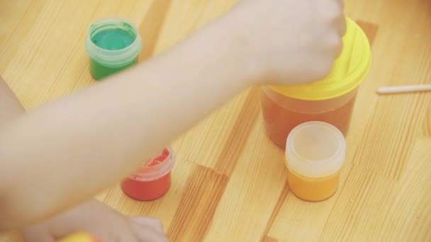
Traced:
[[106, 16], [90, 25], [85, 46], [91, 76], [100, 80], [138, 63], [142, 40], [129, 18]]

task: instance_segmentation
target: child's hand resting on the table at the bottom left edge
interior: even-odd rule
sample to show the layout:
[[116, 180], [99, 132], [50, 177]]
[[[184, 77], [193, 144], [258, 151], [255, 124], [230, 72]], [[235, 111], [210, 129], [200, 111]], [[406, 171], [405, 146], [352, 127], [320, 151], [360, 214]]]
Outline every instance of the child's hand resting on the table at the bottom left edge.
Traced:
[[84, 231], [103, 242], [167, 241], [162, 224], [149, 217], [126, 217], [94, 200], [23, 230], [26, 241], [56, 241]]

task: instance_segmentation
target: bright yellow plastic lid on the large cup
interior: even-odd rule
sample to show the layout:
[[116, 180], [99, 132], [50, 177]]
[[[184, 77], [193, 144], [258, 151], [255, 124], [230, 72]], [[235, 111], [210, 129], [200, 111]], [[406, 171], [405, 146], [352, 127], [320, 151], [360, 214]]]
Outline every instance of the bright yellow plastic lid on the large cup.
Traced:
[[371, 67], [371, 48], [364, 31], [350, 18], [342, 39], [343, 50], [323, 80], [296, 86], [269, 86], [284, 96], [301, 100], [337, 98], [357, 88]]

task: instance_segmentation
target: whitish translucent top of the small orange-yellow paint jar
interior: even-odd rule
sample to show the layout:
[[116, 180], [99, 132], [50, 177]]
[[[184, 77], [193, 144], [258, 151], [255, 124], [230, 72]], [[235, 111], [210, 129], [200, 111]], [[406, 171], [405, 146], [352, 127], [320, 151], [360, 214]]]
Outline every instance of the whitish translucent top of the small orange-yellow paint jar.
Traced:
[[305, 122], [290, 132], [286, 141], [286, 165], [310, 178], [340, 171], [346, 156], [346, 142], [337, 127], [326, 122]]

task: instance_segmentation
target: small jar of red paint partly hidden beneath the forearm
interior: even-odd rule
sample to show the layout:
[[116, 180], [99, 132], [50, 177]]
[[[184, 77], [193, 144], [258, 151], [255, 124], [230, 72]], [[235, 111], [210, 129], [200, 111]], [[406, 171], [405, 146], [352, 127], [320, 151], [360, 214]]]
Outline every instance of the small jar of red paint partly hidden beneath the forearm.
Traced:
[[147, 161], [138, 171], [123, 180], [121, 189], [129, 197], [140, 201], [162, 197], [171, 186], [174, 163], [174, 149], [164, 148], [155, 159]]

